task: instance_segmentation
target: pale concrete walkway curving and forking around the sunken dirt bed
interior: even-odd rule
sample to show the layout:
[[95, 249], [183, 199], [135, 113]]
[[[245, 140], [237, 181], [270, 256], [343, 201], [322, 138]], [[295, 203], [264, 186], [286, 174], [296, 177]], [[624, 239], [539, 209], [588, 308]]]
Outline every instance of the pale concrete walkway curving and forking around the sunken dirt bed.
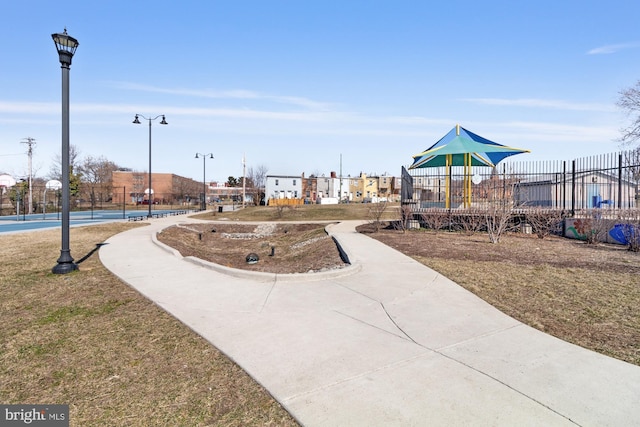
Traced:
[[175, 255], [151, 221], [104, 265], [238, 363], [306, 426], [632, 426], [640, 367], [504, 315], [447, 278], [330, 226], [343, 274], [230, 275]]

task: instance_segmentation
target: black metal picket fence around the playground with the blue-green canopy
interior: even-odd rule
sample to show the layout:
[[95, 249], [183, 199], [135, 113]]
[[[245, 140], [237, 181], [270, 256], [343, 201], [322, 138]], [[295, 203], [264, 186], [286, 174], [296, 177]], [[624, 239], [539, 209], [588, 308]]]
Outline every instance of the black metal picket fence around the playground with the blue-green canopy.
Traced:
[[634, 209], [640, 206], [640, 150], [570, 161], [505, 161], [402, 170], [402, 200], [415, 211], [482, 208], [508, 200], [518, 209]]

